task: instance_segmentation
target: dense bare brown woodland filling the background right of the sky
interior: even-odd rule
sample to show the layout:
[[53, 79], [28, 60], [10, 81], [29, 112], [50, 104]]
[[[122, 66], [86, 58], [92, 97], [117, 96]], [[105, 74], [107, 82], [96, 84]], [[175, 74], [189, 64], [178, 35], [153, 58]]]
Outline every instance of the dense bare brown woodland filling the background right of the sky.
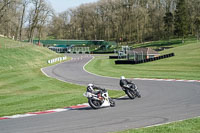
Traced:
[[[189, 13], [193, 35], [196, 33], [195, 18], [199, 16], [198, 1], [188, 1], [192, 9]], [[173, 36], [173, 18], [169, 23], [165, 16], [169, 12], [174, 16], [176, 5], [177, 0], [99, 0], [68, 10], [70, 17], [67, 24], [63, 26], [60, 23], [58, 26], [58, 23], [51, 27], [60, 27], [57, 31], [62, 31], [65, 39], [115, 40], [124, 43], [159, 40], [165, 38], [166, 29]], [[56, 19], [63, 21], [60, 15]]]

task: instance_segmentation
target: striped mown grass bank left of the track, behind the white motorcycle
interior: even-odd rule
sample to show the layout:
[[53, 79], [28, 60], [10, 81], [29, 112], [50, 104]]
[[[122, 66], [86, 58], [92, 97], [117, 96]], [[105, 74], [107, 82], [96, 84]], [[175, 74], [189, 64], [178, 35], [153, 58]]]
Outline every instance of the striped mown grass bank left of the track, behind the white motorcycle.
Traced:
[[[62, 56], [47, 48], [0, 38], [0, 116], [63, 108], [87, 102], [85, 86], [42, 74], [47, 60]], [[18, 47], [20, 46], [20, 47]], [[109, 91], [112, 97], [123, 92]]]

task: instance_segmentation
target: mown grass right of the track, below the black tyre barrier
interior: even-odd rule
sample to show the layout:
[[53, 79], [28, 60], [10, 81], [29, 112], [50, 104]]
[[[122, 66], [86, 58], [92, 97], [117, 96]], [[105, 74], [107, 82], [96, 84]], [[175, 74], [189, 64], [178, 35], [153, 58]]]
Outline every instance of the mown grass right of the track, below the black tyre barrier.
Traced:
[[162, 51], [175, 56], [137, 65], [115, 65], [115, 60], [95, 58], [86, 70], [103, 76], [129, 78], [168, 78], [200, 80], [200, 43], [191, 43]]

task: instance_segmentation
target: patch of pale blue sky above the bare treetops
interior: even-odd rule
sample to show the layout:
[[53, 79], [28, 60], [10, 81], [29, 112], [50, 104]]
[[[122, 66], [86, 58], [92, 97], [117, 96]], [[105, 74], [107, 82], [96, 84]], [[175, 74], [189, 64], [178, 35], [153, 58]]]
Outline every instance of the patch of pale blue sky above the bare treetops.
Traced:
[[81, 4], [97, 2], [98, 0], [48, 0], [53, 9], [57, 12], [66, 11], [69, 8], [78, 7]]

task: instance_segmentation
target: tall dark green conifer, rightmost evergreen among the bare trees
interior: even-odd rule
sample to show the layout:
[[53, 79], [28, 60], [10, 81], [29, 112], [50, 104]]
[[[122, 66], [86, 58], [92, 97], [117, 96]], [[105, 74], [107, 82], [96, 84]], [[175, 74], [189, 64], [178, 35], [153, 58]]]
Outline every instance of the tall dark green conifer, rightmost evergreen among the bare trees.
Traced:
[[175, 10], [175, 35], [184, 37], [188, 34], [188, 11], [186, 0], [178, 0]]

